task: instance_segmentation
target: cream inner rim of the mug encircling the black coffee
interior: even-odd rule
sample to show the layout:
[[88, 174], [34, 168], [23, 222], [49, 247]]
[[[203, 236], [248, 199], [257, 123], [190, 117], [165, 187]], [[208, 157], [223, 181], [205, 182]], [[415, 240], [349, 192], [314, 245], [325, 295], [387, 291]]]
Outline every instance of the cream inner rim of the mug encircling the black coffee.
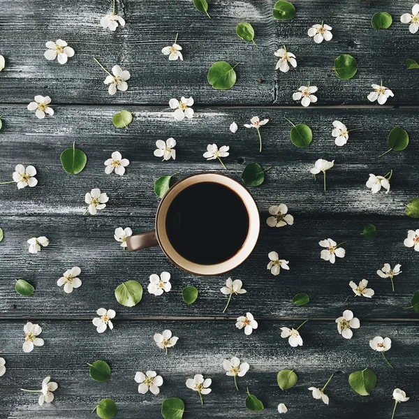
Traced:
[[[215, 182], [231, 189], [234, 193], [237, 194], [237, 196], [240, 197], [244, 203], [244, 206], [246, 207], [247, 214], [249, 216], [249, 229], [242, 247], [231, 258], [228, 258], [227, 260], [224, 260], [221, 263], [216, 263], [214, 265], [202, 265], [200, 263], [193, 263], [191, 260], [187, 260], [181, 256], [174, 249], [174, 247], [172, 247], [166, 232], [166, 215], [173, 199], [178, 195], [179, 192], [183, 191], [189, 186], [202, 182]], [[242, 184], [227, 175], [222, 175], [221, 173], [201, 172], [184, 177], [170, 187], [170, 189], [166, 192], [166, 195], [161, 199], [159, 207], [157, 208], [155, 228], [157, 241], [159, 242], [163, 253], [166, 254], [167, 258], [173, 264], [191, 274], [213, 276], [224, 274], [230, 270], [233, 270], [235, 267], [241, 265], [244, 260], [250, 256], [258, 241], [260, 232], [260, 216], [258, 206], [256, 205], [253, 196], [251, 196], [251, 193], [246, 188], [244, 188]]]

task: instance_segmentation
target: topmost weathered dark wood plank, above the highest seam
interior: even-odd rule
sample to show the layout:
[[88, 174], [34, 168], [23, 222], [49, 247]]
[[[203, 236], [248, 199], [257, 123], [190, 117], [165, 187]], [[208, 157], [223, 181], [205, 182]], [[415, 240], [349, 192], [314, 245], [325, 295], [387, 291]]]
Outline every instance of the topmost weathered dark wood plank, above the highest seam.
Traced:
[[[48, 94], [53, 103], [166, 104], [172, 97], [193, 96], [200, 104], [296, 105], [292, 94], [308, 80], [319, 88], [319, 105], [369, 104], [370, 85], [380, 80], [394, 91], [389, 105], [419, 103], [411, 91], [416, 72], [405, 65], [408, 58], [418, 59], [417, 39], [400, 22], [413, 3], [404, 0], [341, 0], [333, 6], [329, 0], [295, 0], [297, 15], [287, 22], [272, 17], [274, 0], [214, 0], [212, 19], [195, 10], [191, 0], [124, 0], [117, 1], [117, 11], [127, 24], [115, 33], [99, 25], [110, 13], [110, 0], [6, 3], [8, 13], [0, 17], [0, 53], [7, 60], [0, 77], [3, 103], [29, 103], [36, 94]], [[383, 10], [393, 24], [377, 31], [370, 20]], [[316, 45], [307, 30], [322, 20], [333, 27], [333, 39]], [[236, 36], [236, 24], [243, 21], [253, 24], [258, 47]], [[177, 32], [184, 62], [169, 62], [161, 48], [171, 45]], [[45, 42], [59, 37], [75, 49], [65, 66], [43, 57]], [[275, 71], [274, 57], [284, 44], [298, 63], [286, 74]], [[349, 81], [330, 71], [345, 53], [358, 59], [358, 74]], [[94, 56], [107, 68], [120, 64], [131, 71], [128, 91], [108, 94]], [[208, 69], [221, 60], [241, 63], [229, 91], [215, 91], [207, 82]]]

